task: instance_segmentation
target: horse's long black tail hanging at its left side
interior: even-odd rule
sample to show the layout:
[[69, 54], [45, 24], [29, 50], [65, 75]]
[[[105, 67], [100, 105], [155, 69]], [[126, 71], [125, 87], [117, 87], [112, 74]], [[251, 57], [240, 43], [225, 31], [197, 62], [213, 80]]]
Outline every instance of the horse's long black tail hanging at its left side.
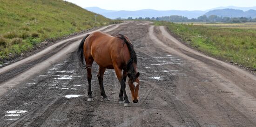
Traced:
[[87, 34], [81, 41], [81, 43], [79, 44], [78, 46], [78, 50], [76, 52], [76, 55], [77, 55], [77, 58], [78, 58], [78, 61], [79, 61], [79, 65], [82, 69], [86, 69], [86, 65], [85, 65], [85, 62], [84, 62], [84, 54], [83, 54], [83, 47], [84, 47], [84, 42], [85, 42], [85, 39], [89, 36], [89, 34]]

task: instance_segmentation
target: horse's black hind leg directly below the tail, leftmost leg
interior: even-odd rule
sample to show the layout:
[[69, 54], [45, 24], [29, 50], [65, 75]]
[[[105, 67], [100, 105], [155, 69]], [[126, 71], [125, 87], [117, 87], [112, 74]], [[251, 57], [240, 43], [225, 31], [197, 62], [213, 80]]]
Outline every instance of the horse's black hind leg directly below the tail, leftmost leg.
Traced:
[[92, 81], [92, 65], [94, 62], [93, 58], [85, 58], [86, 66], [87, 66], [87, 81], [88, 81], [88, 99], [87, 101], [94, 101], [91, 90], [91, 81]]

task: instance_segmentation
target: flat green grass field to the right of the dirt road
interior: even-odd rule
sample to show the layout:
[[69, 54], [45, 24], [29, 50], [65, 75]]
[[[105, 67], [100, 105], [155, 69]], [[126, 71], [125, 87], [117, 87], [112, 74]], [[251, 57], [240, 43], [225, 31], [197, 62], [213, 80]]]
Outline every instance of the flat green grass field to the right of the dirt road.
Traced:
[[164, 25], [184, 42], [211, 56], [256, 69], [256, 29], [223, 28], [219, 26], [175, 24], [155, 22]]

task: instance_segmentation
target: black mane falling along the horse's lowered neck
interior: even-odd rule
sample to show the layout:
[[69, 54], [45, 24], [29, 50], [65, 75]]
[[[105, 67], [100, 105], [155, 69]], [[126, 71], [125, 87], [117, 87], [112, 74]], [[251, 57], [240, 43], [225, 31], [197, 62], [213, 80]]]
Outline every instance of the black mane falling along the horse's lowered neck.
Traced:
[[137, 64], [137, 55], [134, 51], [133, 44], [128, 42], [127, 39], [122, 34], [118, 34], [116, 37], [124, 41], [124, 43], [127, 45], [128, 50], [130, 52], [131, 59], [126, 63], [126, 66], [127, 66], [126, 72], [128, 72], [129, 74], [135, 74], [135, 68], [133, 66], [133, 63]]

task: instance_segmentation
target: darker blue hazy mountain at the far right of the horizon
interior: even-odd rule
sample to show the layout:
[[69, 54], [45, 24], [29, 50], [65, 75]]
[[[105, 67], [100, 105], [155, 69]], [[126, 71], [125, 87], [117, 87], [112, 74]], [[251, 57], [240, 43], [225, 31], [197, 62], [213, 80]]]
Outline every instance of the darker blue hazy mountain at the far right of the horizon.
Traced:
[[218, 9], [218, 10], [212, 10], [208, 13], [205, 13], [204, 15], [210, 16], [210, 15], [217, 15], [222, 17], [251, 17], [256, 18], [256, 10], [249, 10], [249, 11], [243, 11], [243, 10], [236, 10], [236, 9]]

